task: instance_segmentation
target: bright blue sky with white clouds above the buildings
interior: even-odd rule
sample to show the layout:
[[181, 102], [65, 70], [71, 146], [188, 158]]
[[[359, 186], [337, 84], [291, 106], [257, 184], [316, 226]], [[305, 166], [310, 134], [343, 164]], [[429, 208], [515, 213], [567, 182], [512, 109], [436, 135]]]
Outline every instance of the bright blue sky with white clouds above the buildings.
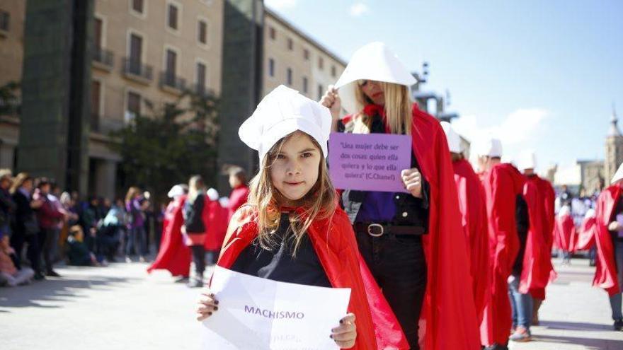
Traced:
[[[604, 158], [612, 103], [623, 119], [623, 1], [265, 0], [348, 62], [382, 41], [425, 90], [450, 91], [455, 128], [496, 134], [539, 170]], [[620, 123], [623, 128], [623, 121]]]

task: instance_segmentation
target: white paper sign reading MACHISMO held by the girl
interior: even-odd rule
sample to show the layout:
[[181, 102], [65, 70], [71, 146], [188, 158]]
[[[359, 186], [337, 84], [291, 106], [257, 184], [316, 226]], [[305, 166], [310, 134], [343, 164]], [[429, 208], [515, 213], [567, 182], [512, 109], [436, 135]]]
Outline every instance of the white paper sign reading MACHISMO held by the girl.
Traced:
[[338, 349], [331, 335], [346, 315], [350, 288], [290, 284], [215, 267], [219, 310], [203, 322], [205, 350]]

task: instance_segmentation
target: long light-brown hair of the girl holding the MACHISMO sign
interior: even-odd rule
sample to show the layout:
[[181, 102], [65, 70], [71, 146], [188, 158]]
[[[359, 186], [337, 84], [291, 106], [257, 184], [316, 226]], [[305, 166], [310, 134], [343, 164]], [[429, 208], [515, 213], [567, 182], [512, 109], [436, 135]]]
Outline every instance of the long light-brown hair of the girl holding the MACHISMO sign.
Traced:
[[[278, 231], [280, 224], [280, 196], [278, 189], [275, 188], [270, 180], [270, 167], [273, 165], [276, 156], [280, 153], [283, 145], [289, 140], [292, 134], [280, 139], [270, 151], [266, 153], [262, 160], [258, 174], [253, 177], [249, 186], [248, 204], [256, 206], [258, 212], [258, 243], [265, 249], [272, 249], [275, 246], [273, 234]], [[314, 146], [322, 153], [319, 144], [305, 134], [314, 143]], [[290, 226], [294, 234], [294, 247], [292, 255], [296, 256], [305, 232], [316, 218], [328, 218], [333, 215], [336, 208], [336, 190], [328, 177], [326, 162], [321, 159], [319, 164], [318, 180], [309, 189], [302, 199], [299, 199], [301, 206], [304, 207], [302, 214], [290, 215]]]

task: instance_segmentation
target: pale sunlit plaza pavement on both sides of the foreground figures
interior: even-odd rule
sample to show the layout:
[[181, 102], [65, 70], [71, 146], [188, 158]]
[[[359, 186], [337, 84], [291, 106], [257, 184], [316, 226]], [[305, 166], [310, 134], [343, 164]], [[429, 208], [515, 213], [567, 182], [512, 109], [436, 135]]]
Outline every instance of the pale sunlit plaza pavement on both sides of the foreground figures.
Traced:
[[[0, 288], [0, 349], [198, 350], [198, 290], [174, 283], [166, 272], [148, 275], [146, 268], [138, 262], [59, 267], [62, 279]], [[535, 342], [510, 349], [623, 349], [605, 292], [590, 286], [587, 260], [556, 269], [559, 279], [547, 288]]]

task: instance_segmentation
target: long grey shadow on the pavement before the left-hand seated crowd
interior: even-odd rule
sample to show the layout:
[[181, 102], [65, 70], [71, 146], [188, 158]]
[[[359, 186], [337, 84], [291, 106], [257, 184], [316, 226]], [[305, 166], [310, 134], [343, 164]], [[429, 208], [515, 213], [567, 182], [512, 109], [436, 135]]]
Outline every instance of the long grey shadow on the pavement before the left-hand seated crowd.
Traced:
[[[120, 277], [89, 277], [75, 279], [63, 277], [61, 279], [45, 279], [35, 281], [28, 286], [0, 288], [0, 308], [60, 308], [61, 303], [84, 298], [80, 295], [81, 288], [110, 289], [127, 284], [136, 279]], [[60, 302], [60, 303], [55, 303]], [[7, 310], [0, 310], [7, 312]]]

